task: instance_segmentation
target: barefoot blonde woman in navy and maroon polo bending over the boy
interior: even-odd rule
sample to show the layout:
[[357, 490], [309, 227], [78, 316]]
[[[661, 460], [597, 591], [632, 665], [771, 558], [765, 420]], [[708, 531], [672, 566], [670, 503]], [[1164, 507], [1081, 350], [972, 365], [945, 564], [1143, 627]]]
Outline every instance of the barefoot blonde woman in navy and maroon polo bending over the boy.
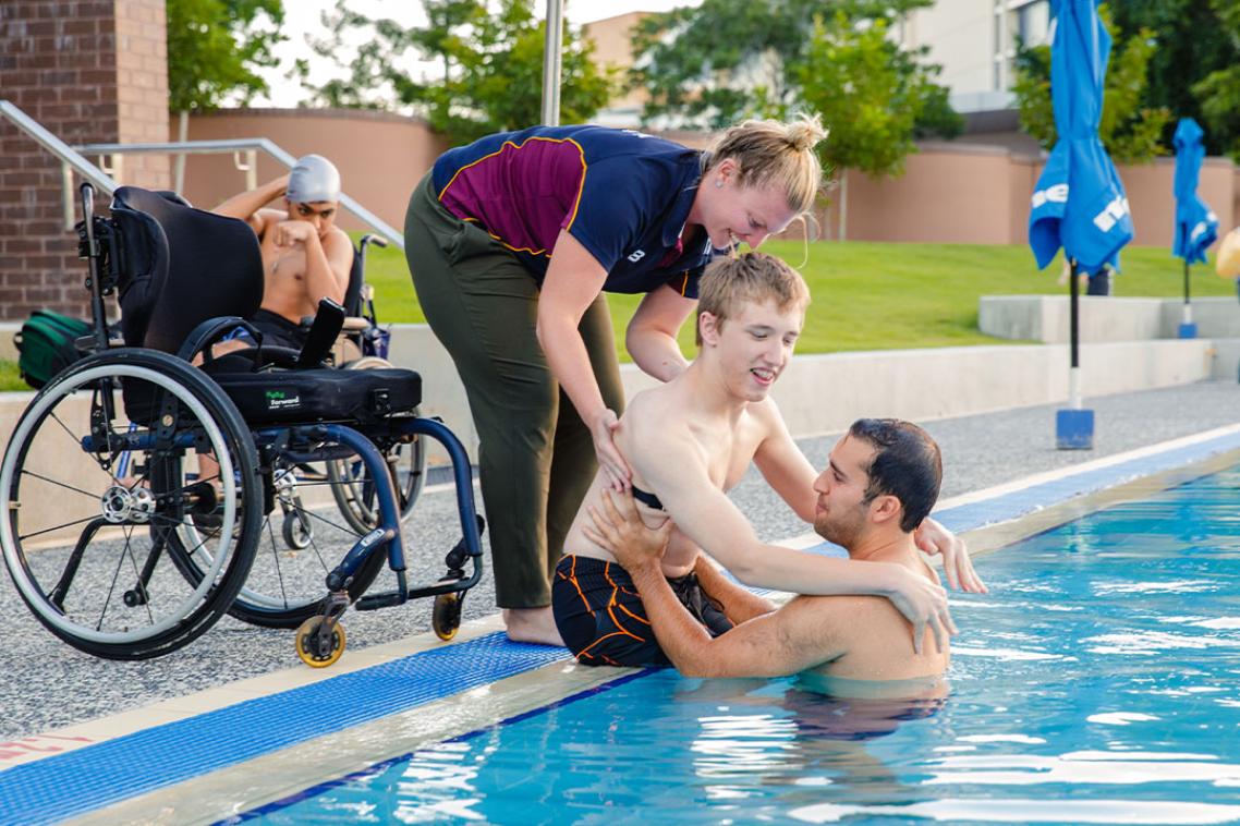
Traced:
[[409, 202], [405, 251], [480, 438], [496, 602], [513, 640], [562, 644], [551, 575], [595, 470], [630, 469], [613, 432], [624, 397], [603, 293], [641, 293], [626, 344], [661, 381], [717, 251], [756, 248], [821, 186], [817, 119], [748, 122], [702, 153], [603, 127], [536, 127], [435, 161]]

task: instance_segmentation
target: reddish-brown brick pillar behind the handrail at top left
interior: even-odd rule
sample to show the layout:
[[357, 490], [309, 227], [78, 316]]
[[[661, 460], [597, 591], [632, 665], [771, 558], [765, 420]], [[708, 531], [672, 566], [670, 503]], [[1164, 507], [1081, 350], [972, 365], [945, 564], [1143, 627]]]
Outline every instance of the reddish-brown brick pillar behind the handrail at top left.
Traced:
[[[0, 1], [0, 98], [69, 145], [167, 140], [165, 50], [162, 0]], [[166, 158], [122, 164], [122, 182], [169, 185]], [[83, 264], [60, 161], [0, 120], [0, 320], [84, 315]]]

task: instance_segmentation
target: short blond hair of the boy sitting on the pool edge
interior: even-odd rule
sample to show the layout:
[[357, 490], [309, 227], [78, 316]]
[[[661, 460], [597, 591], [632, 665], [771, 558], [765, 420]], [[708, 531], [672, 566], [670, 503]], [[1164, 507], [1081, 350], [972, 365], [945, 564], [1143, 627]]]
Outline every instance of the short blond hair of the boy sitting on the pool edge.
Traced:
[[707, 267], [698, 288], [698, 346], [702, 345], [703, 313], [723, 324], [737, 315], [742, 305], [766, 301], [774, 301], [780, 311], [805, 313], [810, 305], [810, 288], [800, 273], [775, 255], [748, 252], [735, 258], [717, 258]]

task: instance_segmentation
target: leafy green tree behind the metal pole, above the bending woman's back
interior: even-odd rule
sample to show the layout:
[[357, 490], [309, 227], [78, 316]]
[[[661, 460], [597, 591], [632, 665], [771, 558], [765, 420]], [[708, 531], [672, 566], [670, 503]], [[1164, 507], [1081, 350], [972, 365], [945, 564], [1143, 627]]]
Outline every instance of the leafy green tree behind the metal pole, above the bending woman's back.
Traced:
[[[316, 99], [343, 107], [412, 107], [453, 143], [539, 123], [546, 27], [532, 0], [423, 0], [423, 7], [427, 26], [405, 29], [350, 11], [341, 0], [325, 15], [331, 38], [315, 43], [315, 52], [331, 58], [357, 35], [363, 43], [346, 67], [347, 77], [320, 87]], [[403, 67], [410, 58], [441, 71], [410, 77]], [[590, 119], [611, 95], [613, 81], [596, 68], [593, 43], [570, 26], [564, 31], [562, 78], [567, 123]]]

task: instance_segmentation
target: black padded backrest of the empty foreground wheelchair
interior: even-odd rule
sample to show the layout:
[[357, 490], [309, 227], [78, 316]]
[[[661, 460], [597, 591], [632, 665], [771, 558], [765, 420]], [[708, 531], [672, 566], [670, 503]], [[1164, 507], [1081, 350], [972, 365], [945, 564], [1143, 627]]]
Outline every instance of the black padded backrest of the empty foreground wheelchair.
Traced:
[[176, 352], [200, 322], [258, 310], [263, 258], [244, 221], [136, 186], [118, 189], [110, 208], [126, 345]]

